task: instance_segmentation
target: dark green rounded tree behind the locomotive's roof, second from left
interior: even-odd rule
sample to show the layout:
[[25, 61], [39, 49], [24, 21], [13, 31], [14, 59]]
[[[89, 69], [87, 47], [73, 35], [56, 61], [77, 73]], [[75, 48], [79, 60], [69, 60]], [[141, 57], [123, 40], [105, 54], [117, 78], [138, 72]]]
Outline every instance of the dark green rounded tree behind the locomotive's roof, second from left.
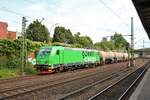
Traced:
[[65, 29], [64, 27], [56, 27], [52, 42], [73, 44], [74, 37], [69, 29]]

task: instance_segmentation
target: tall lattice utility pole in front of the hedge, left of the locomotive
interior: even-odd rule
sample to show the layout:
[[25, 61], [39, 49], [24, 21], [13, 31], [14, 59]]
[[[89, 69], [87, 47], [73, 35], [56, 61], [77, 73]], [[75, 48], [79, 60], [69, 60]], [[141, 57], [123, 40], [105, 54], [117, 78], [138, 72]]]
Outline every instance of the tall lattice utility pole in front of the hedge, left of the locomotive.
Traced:
[[25, 73], [25, 67], [26, 67], [26, 59], [27, 59], [27, 44], [26, 44], [26, 17], [22, 17], [22, 37], [23, 37], [23, 44], [22, 44], [22, 67], [21, 67], [21, 73], [24, 75]]

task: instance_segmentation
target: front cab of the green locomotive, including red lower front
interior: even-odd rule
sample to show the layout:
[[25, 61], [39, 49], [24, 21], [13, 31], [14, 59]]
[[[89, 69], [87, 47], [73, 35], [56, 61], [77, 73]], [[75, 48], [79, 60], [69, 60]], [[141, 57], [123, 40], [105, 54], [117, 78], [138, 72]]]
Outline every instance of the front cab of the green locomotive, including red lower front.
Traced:
[[36, 70], [41, 73], [53, 72], [62, 58], [62, 48], [58, 46], [42, 47], [36, 57]]

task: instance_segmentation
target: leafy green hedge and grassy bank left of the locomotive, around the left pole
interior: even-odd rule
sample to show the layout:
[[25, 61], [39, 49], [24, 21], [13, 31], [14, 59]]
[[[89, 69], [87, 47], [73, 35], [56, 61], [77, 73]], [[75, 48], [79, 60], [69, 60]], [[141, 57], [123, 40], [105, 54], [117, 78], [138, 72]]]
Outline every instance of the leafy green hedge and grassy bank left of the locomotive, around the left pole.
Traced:
[[[26, 39], [26, 51], [27, 55], [32, 51], [38, 52], [41, 46], [46, 46], [50, 44], [45, 44], [43, 42], [32, 42], [31, 40]], [[16, 40], [0, 40], [0, 75], [1, 77], [16, 76], [21, 70], [21, 61], [22, 61], [22, 46], [23, 39]], [[2, 72], [4, 71], [4, 73]], [[27, 65], [25, 71], [27, 74], [36, 73], [32, 69], [31, 65]]]

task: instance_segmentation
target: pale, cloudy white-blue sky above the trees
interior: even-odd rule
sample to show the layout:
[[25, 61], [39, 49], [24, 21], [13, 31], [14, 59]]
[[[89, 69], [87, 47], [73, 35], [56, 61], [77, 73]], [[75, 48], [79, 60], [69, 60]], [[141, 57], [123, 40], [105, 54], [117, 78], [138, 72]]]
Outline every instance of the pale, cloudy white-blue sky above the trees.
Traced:
[[[51, 37], [56, 26], [64, 26], [73, 34], [90, 36], [94, 43], [115, 32], [129, 35], [133, 17], [135, 48], [142, 48], [143, 40], [150, 47], [132, 0], [0, 0], [0, 21], [7, 22], [9, 30], [21, 32], [23, 16], [27, 25], [44, 18]], [[125, 39], [130, 42], [130, 37]]]

